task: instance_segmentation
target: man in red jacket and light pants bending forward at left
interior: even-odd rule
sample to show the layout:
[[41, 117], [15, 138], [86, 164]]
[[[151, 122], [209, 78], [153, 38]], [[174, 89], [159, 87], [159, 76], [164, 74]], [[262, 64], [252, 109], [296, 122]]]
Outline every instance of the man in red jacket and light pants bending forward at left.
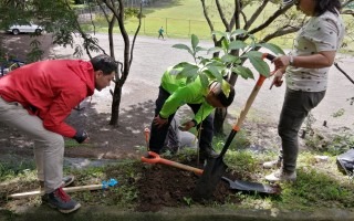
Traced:
[[63, 213], [81, 204], [62, 189], [64, 138], [86, 143], [88, 135], [64, 120], [85, 97], [110, 85], [117, 71], [111, 56], [50, 60], [19, 67], [0, 78], [0, 122], [34, 140], [38, 178], [44, 181], [42, 200]]

